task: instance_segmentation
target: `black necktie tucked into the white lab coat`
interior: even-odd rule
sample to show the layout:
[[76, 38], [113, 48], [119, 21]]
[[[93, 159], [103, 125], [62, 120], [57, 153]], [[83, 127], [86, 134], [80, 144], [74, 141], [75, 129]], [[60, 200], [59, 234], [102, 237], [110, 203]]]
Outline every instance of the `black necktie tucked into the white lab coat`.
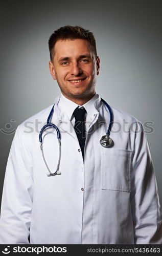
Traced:
[[80, 109], [77, 107], [73, 113], [75, 117], [74, 129], [79, 140], [83, 159], [84, 159], [84, 145], [85, 145], [85, 138], [86, 138], [85, 122], [84, 122], [85, 113], [86, 113], [86, 110], [83, 107]]

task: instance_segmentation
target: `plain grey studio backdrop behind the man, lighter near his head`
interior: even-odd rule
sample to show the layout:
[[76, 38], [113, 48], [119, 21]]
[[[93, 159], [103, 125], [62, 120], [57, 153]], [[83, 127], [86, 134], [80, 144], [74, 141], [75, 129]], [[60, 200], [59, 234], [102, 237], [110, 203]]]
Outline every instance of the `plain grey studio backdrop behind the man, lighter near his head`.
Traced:
[[[49, 36], [60, 26], [81, 25], [97, 41], [97, 92], [143, 123], [154, 122], [147, 138], [162, 203], [161, 1], [1, 1], [0, 14], [0, 128], [9, 133], [53, 104], [60, 91], [48, 68]], [[0, 198], [13, 136], [0, 131]]]

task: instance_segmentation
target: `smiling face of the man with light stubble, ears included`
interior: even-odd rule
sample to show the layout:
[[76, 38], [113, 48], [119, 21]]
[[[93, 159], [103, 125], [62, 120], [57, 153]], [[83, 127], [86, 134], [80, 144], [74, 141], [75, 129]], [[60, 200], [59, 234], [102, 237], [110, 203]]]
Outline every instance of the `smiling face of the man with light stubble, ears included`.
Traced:
[[66, 98], [88, 100], [94, 96], [100, 59], [95, 57], [87, 40], [58, 40], [49, 67]]

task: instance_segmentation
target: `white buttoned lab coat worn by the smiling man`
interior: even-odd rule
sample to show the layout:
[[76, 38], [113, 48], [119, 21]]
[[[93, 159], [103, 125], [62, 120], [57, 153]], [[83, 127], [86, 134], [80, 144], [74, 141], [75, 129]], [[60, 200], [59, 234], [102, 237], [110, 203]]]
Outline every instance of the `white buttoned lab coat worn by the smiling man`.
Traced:
[[[61, 131], [62, 174], [46, 175], [40, 151], [39, 131], [50, 106], [17, 128], [5, 175], [0, 243], [161, 244], [161, 210], [141, 123], [112, 108], [114, 146], [102, 147], [99, 141], [107, 130], [109, 112], [99, 98], [83, 162], [74, 128], [58, 102], [59, 97], [52, 122]], [[119, 131], [124, 119], [129, 132]], [[44, 137], [43, 146], [49, 167], [55, 170], [56, 132]]]

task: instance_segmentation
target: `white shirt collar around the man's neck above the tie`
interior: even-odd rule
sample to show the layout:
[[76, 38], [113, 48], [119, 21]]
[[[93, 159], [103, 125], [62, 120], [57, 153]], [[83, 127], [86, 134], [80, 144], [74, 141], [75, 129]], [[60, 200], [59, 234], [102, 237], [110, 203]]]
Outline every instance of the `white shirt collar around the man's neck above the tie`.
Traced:
[[[84, 105], [84, 108], [87, 112], [87, 115], [90, 117], [90, 119], [94, 119], [94, 116], [98, 114], [98, 104], [100, 101], [100, 97], [98, 94], [95, 94], [94, 97], [92, 97], [90, 100], [88, 100]], [[78, 104], [73, 102], [72, 100], [67, 99], [65, 96], [61, 94], [60, 100], [59, 100], [59, 107], [64, 110], [66, 115], [68, 116], [68, 119], [73, 119], [73, 112], [77, 108]]]

